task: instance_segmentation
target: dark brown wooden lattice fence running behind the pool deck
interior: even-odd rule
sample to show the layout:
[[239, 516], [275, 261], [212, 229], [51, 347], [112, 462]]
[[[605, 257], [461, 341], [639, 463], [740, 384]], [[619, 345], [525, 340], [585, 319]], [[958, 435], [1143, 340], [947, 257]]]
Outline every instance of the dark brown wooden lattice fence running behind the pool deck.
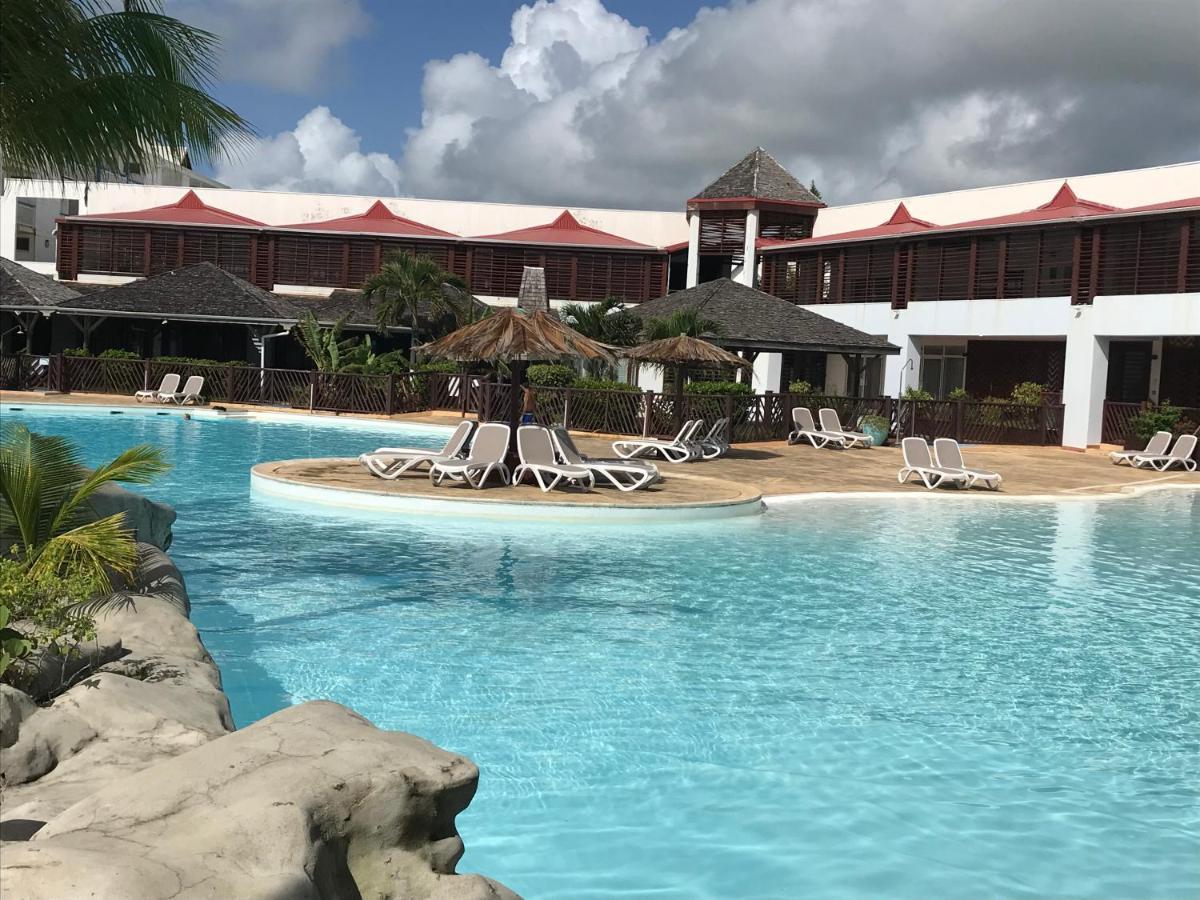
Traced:
[[[320, 409], [340, 413], [414, 413], [448, 409], [484, 421], [506, 421], [511, 386], [490, 378], [440, 372], [331, 374], [290, 368], [203, 366], [160, 360], [91, 356], [0, 356], [0, 386], [17, 390], [132, 395], [157, 388], [168, 372], [204, 377], [204, 397], [216, 403]], [[606, 434], [674, 434], [688, 419], [727, 418], [734, 443], [782, 440], [792, 409], [838, 412], [842, 426], [864, 415], [886, 419], [893, 434], [953, 437], [964, 443], [1057, 444], [1061, 403], [1019, 406], [973, 401], [896, 401], [892, 397], [827, 397], [800, 394], [696, 395], [655, 391], [535, 388], [535, 419], [575, 431]], [[1133, 404], [1138, 407], [1138, 404]], [[1108, 421], [1108, 419], [1105, 419]]]

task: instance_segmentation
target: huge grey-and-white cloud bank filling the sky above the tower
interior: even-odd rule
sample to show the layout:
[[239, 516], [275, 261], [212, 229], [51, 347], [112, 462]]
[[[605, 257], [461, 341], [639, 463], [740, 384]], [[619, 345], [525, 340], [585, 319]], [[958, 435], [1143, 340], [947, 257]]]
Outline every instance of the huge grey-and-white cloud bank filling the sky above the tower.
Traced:
[[600, 0], [512, 17], [499, 65], [426, 66], [420, 196], [677, 209], [762, 144], [827, 198], [1178, 161], [1188, 0], [755, 0], [650, 41]]

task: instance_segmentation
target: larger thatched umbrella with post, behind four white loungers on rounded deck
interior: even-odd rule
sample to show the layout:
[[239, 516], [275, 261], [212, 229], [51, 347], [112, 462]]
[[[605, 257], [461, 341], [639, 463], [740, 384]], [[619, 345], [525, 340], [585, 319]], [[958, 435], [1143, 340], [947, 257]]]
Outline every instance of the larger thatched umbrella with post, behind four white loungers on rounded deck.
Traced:
[[512, 307], [497, 310], [485, 319], [464, 325], [418, 348], [432, 359], [457, 362], [505, 362], [512, 372], [512, 396], [509, 421], [516, 446], [516, 428], [521, 421], [521, 385], [530, 362], [559, 360], [604, 360], [612, 364], [612, 348], [584, 337], [558, 317], [544, 310], [532, 313]]

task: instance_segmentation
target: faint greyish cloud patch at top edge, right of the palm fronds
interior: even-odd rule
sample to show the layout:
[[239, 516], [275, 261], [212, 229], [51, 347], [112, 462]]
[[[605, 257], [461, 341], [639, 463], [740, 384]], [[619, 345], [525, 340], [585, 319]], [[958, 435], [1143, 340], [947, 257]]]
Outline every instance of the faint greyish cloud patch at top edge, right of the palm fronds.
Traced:
[[287, 91], [316, 86], [368, 24], [360, 0], [169, 0], [167, 10], [221, 36], [224, 78]]

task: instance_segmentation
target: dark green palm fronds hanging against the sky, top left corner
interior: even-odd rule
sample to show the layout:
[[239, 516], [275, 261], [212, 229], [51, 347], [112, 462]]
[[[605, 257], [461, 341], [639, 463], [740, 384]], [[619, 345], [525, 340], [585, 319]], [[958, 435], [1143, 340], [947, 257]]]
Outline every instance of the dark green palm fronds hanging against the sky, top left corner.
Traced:
[[0, 16], [0, 166], [89, 178], [163, 151], [205, 161], [252, 136], [209, 95], [215, 35], [161, 0], [23, 0]]

